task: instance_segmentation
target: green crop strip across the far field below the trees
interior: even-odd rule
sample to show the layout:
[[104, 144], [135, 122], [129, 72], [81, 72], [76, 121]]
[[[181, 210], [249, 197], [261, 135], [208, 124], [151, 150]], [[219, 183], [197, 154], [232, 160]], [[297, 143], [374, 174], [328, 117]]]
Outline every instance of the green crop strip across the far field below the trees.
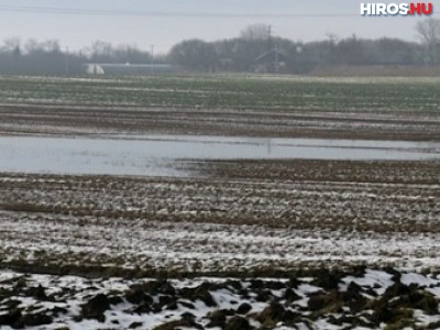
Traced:
[[75, 106], [435, 112], [440, 79], [263, 76], [0, 77], [0, 101]]

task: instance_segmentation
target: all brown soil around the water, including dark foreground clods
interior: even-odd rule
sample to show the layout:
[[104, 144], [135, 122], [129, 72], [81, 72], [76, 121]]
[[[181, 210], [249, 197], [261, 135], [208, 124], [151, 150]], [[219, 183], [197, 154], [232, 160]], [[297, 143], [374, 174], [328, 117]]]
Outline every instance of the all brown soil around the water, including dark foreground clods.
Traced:
[[[0, 134], [440, 141], [432, 109], [358, 110], [14, 101]], [[174, 166], [189, 177], [0, 173], [0, 327], [440, 327], [440, 162]]]

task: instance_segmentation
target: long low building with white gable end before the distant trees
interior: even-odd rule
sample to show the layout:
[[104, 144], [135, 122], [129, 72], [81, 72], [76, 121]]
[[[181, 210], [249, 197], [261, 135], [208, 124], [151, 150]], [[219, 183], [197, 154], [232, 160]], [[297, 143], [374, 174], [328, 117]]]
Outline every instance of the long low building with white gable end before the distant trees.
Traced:
[[178, 72], [172, 64], [88, 63], [89, 75], [161, 75]]

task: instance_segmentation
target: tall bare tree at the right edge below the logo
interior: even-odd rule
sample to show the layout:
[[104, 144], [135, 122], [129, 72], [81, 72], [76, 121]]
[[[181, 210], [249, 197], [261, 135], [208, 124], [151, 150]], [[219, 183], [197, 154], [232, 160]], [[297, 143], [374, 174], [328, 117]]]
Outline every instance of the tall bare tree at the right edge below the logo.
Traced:
[[419, 21], [416, 31], [426, 47], [426, 62], [437, 64], [439, 61], [440, 47], [440, 20], [429, 18]]

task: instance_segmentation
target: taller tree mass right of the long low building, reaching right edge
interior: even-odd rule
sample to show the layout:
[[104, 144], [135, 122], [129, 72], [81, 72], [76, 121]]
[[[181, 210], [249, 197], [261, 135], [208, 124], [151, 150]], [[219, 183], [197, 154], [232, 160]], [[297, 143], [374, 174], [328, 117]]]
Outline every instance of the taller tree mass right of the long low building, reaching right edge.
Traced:
[[168, 58], [202, 72], [284, 72], [307, 74], [319, 67], [341, 65], [437, 65], [440, 63], [440, 20], [416, 26], [420, 42], [398, 38], [338, 38], [294, 42], [271, 35], [268, 25], [244, 29], [239, 37], [207, 43], [188, 40], [175, 45]]

